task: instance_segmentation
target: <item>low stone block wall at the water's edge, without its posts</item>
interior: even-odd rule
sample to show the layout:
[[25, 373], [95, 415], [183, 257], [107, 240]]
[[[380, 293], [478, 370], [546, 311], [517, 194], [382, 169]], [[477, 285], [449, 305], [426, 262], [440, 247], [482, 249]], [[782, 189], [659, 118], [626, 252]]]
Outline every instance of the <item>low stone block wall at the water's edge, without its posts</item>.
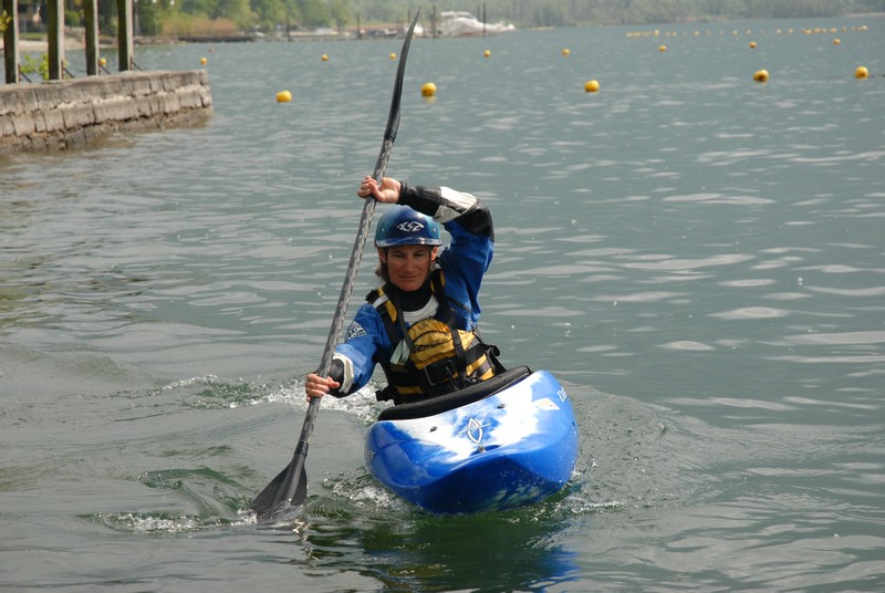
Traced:
[[0, 155], [65, 150], [118, 129], [197, 125], [211, 113], [205, 70], [8, 84], [0, 86]]

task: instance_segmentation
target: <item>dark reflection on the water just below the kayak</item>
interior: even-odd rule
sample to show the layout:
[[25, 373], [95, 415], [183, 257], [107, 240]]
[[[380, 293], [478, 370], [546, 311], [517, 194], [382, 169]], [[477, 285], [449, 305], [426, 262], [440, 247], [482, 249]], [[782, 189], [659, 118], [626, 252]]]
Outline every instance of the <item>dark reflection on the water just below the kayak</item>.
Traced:
[[341, 508], [306, 512], [296, 562], [319, 574], [364, 566], [383, 591], [452, 591], [468, 583], [475, 591], [540, 590], [575, 576], [575, 553], [562, 535], [568, 521], [553, 517], [414, 514], [404, 521], [353, 510], [342, 517]]

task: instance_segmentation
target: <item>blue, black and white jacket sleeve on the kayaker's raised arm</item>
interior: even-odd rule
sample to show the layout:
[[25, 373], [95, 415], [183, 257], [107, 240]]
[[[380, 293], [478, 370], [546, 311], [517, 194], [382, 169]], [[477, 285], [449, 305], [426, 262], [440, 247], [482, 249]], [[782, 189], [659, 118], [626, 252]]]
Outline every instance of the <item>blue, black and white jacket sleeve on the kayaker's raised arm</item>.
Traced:
[[494, 229], [488, 207], [472, 194], [450, 187], [409, 186], [399, 189], [399, 204], [430, 216], [451, 236], [438, 259], [446, 278], [446, 296], [458, 327], [476, 329], [482, 277], [494, 252]]

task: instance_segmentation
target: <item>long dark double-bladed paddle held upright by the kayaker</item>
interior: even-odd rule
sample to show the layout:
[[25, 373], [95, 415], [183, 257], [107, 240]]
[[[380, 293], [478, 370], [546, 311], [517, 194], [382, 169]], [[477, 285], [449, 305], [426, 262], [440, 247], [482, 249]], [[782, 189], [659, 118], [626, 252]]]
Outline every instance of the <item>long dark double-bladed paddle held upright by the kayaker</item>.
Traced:
[[[378, 160], [375, 163], [375, 171], [373, 173], [373, 177], [375, 177], [378, 184], [381, 184], [382, 177], [384, 177], [384, 169], [387, 168], [387, 160], [391, 158], [391, 152], [393, 150], [394, 141], [396, 139], [396, 132], [399, 129], [399, 98], [403, 94], [403, 76], [406, 71], [406, 58], [408, 56], [408, 48], [412, 43], [412, 34], [415, 32], [415, 24], [418, 22], [419, 14], [420, 9], [418, 9], [415, 13], [415, 18], [412, 20], [412, 24], [406, 33], [406, 39], [403, 42], [403, 51], [399, 55], [399, 65], [396, 70], [396, 81], [394, 82], [394, 92], [391, 98], [391, 112], [387, 115], [387, 127], [384, 131], [384, 142], [382, 143]], [[347, 312], [347, 303], [351, 300], [360, 261], [363, 259], [363, 247], [365, 247], [366, 238], [368, 237], [368, 229], [372, 226], [372, 215], [374, 212], [375, 200], [368, 197], [363, 205], [363, 214], [360, 217], [360, 228], [356, 232], [353, 250], [351, 251], [351, 260], [347, 264], [347, 272], [344, 275], [344, 283], [341, 287], [339, 304], [335, 308], [332, 326], [329, 329], [329, 337], [325, 341], [320, 370], [316, 371], [316, 374], [320, 376], [327, 376], [329, 368], [332, 365], [332, 355], [335, 352], [335, 345], [337, 344], [341, 330], [344, 325], [344, 315]], [[308, 412], [304, 415], [304, 424], [301, 426], [301, 436], [295, 446], [295, 451], [292, 455], [292, 460], [252, 501], [252, 510], [256, 511], [259, 521], [273, 519], [274, 516], [281, 514], [287, 507], [299, 506], [308, 498], [308, 474], [304, 470], [304, 460], [308, 457], [308, 440], [310, 440], [311, 433], [313, 433], [313, 423], [319, 412], [320, 398], [315, 397], [311, 399], [311, 403], [308, 405]]]

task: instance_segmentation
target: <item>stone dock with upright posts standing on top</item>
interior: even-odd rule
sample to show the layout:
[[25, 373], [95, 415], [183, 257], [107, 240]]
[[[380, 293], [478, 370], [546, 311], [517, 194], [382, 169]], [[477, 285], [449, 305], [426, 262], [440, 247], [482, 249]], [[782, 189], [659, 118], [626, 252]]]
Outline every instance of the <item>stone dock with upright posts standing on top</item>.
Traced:
[[[98, 58], [98, 0], [83, 0], [86, 76], [64, 67], [64, 3], [46, 1], [48, 80], [22, 82], [18, 0], [2, 0], [6, 84], [0, 86], [0, 156], [65, 150], [119, 129], [205, 123], [212, 113], [205, 70], [142, 72], [134, 61], [133, 0], [116, 0], [118, 69]], [[101, 70], [100, 70], [101, 69]], [[103, 72], [104, 73], [103, 73]]]

